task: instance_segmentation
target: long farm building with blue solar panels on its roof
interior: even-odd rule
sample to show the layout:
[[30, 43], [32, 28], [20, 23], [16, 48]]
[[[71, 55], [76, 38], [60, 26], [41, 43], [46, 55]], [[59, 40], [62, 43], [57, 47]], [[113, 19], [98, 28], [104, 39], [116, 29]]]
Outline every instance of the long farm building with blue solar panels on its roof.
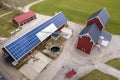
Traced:
[[[56, 14], [43, 24], [25, 33], [18, 39], [3, 47], [7, 58], [12, 58], [13, 65], [23, 61], [35, 48], [45, 43], [52, 33], [62, 29], [67, 24], [67, 19], [62, 12]], [[14, 64], [16, 62], [16, 64]]]

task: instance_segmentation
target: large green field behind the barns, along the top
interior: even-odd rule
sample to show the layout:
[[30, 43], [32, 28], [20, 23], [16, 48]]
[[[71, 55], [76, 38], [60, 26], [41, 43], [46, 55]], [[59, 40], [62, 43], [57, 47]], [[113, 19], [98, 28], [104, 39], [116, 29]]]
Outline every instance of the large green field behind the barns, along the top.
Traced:
[[85, 24], [90, 14], [103, 7], [107, 8], [111, 16], [107, 30], [120, 34], [120, 0], [44, 0], [30, 9], [45, 15], [63, 11], [68, 20]]

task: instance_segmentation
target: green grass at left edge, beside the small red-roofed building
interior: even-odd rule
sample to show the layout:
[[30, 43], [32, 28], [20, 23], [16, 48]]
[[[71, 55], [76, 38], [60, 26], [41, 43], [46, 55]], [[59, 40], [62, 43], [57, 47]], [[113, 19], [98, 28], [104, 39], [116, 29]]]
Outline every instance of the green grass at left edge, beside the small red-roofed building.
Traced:
[[17, 29], [17, 26], [13, 25], [11, 20], [15, 16], [15, 14], [11, 13], [4, 17], [0, 18], [0, 36], [1, 37], [8, 37], [10, 32]]

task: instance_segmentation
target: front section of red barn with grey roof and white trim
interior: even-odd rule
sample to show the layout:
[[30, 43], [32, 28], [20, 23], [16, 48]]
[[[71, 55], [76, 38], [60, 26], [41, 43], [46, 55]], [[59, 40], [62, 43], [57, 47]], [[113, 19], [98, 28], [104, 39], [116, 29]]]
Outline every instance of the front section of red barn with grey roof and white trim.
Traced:
[[79, 35], [77, 48], [89, 54], [100, 35], [101, 31], [96, 23], [85, 27]]

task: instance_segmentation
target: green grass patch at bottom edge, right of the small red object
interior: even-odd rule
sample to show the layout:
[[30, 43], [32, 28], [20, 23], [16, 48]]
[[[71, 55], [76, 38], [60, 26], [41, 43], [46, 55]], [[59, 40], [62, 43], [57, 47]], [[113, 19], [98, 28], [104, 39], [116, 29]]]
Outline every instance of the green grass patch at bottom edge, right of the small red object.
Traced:
[[78, 80], [117, 80], [115, 77], [104, 74], [98, 70], [94, 70]]

